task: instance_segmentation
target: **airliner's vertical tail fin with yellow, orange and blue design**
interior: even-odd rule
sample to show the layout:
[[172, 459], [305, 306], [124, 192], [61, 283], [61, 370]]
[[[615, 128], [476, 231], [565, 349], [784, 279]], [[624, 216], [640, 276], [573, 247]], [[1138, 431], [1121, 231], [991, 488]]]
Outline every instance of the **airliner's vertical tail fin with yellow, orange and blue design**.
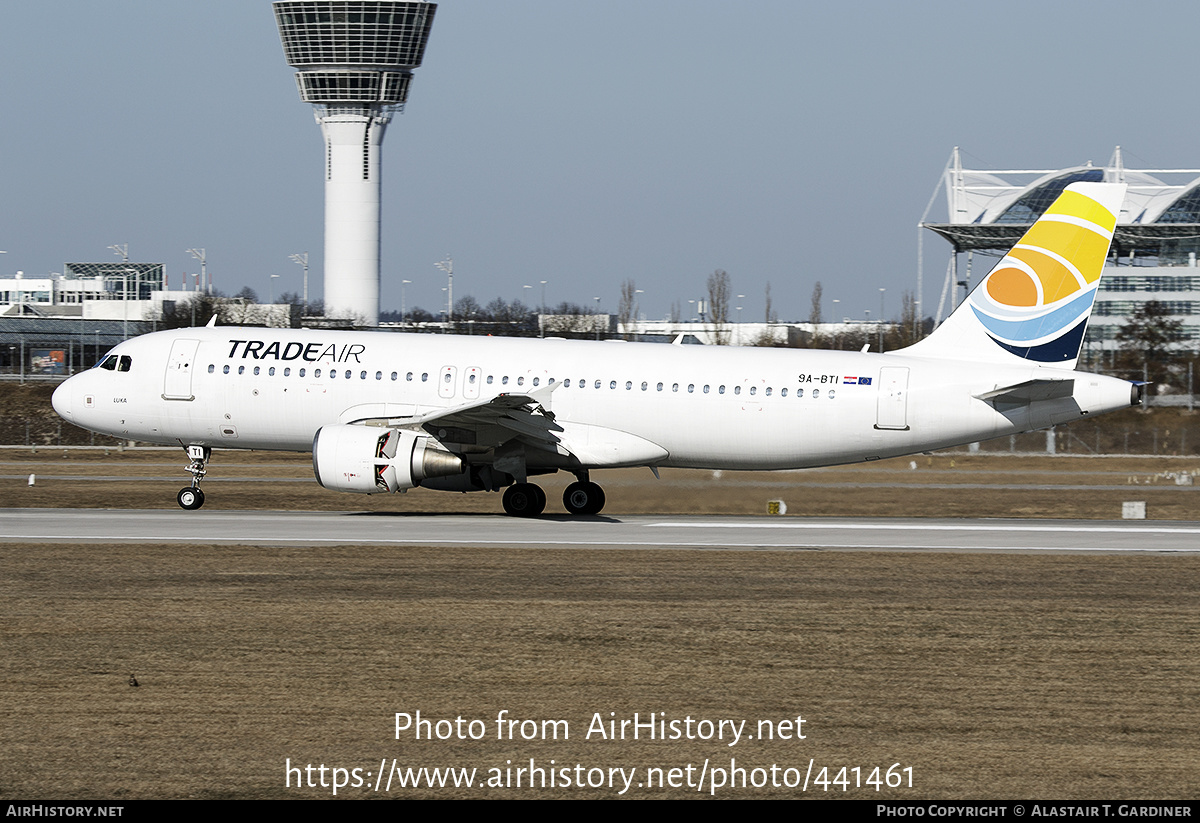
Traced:
[[905, 354], [1074, 368], [1124, 192], [1124, 184], [1067, 186], [946, 323]]

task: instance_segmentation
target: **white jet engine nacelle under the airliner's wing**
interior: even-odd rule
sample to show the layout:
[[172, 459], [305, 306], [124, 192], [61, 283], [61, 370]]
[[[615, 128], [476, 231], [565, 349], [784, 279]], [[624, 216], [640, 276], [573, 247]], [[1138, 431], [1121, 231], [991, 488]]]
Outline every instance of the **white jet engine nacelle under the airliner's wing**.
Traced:
[[462, 458], [440, 443], [404, 428], [323, 426], [312, 441], [317, 482], [338, 492], [398, 492], [463, 468]]

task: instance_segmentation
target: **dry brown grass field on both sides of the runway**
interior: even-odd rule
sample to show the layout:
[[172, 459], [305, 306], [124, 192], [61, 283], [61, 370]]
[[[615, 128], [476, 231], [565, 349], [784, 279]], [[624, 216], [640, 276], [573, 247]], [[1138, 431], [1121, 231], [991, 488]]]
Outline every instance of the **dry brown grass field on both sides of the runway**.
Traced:
[[[65, 455], [65, 456], [64, 456]], [[0, 450], [6, 506], [173, 507], [182, 455]], [[949, 456], [818, 473], [598, 473], [606, 513], [1195, 519], [1190, 459]], [[498, 511], [498, 495], [338, 495], [304, 457], [218, 453], [216, 507]], [[37, 475], [30, 487], [26, 475]], [[64, 477], [80, 477], [67, 480]], [[554, 491], [565, 479], [547, 479]], [[0, 517], [2, 517], [0, 510]], [[451, 521], [448, 521], [451, 522]], [[292, 765], [637, 769], [623, 797], [728, 769], [912, 767], [913, 788], [803, 797], [1200, 793], [1200, 557], [0, 543], [0, 798], [331, 797]], [[138, 686], [130, 685], [136, 675]], [[396, 739], [395, 713], [481, 720]], [[496, 717], [566, 720], [498, 740]], [[803, 740], [604, 740], [593, 716], [803, 716]], [[610, 715], [613, 713], [613, 715]], [[509, 763], [511, 761], [511, 763]], [[685, 785], [638, 786], [678, 768]], [[595, 773], [593, 773], [595, 774]], [[782, 775], [785, 773], [780, 773]], [[316, 777], [317, 773], [314, 773]], [[768, 776], [768, 773], [762, 773]], [[853, 773], [847, 773], [853, 783]], [[331, 775], [326, 775], [329, 780]], [[295, 776], [293, 777], [293, 780]], [[319, 779], [319, 777], [318, 777]], [[373, 777], [371, 779], [373, 781]], [[368, 783], [373, 785], [373, 783]], [[618, 797], [347, 787], [338, 797]], [[703, 795], [707, 797], [706, 785]], [[720, 788], [716, 797], [802, 797]]]

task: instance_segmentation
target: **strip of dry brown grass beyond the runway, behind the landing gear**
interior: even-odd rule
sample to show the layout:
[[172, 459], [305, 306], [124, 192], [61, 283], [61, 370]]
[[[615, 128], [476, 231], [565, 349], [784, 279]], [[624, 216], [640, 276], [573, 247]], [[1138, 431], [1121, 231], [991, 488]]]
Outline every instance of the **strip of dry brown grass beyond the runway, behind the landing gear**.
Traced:
[[[186, 485], [182, 450], [0, 450], [0, 501], [7, 506], [174, 509]], [[911, 469], [916, 465], [916, 469]], [[1200, 458], [944, 455], [806, 471], [598, 471], [605, 513], [758, 515], [782, 499], [788, 515], [878, 517], [1120, 518], [1124, 500], [1145, 500], [1152, 519], [1195, 519], [1200, 480], [1176, 486], [1170, 474], [1200, 473]], [[28, 476], [37, 475], [29, 487]], [[119, 477], [96, 481], [64, 477]], [[539, 477], [562, 511], [572, 480]], [[282, 481], [282, 482], [281, 482]], [[205, 505], [220, 509], [498, 512], [499, 494], [413, 489], [402, 495], [328, 492], [306, 455], [217, 452], [204, 481]]]

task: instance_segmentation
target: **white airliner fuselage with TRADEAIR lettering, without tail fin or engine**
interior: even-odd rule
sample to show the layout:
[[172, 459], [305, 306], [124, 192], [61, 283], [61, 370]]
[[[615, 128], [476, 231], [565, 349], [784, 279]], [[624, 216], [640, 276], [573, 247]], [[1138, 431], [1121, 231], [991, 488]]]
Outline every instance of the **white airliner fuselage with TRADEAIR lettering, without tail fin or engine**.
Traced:
[[[586, 468], [853, 463], [1132, 402], [1129, 383], [1104, 376], [902, 353], [214, 328], [146, 335], [110, 354], [128, 356], [128, 370], [71, 378], [55, 408], [113, 437], [308, 451], [322, 426], [412, 419], [553, 385], [544, 406]], [[1073, 385], [1049, 400], [980, 400], [1046, 378]], [[427, 431], [438, 435], [436, 423]], [[472, 455], [490, 447], [486, 432], [439, 439]]]

